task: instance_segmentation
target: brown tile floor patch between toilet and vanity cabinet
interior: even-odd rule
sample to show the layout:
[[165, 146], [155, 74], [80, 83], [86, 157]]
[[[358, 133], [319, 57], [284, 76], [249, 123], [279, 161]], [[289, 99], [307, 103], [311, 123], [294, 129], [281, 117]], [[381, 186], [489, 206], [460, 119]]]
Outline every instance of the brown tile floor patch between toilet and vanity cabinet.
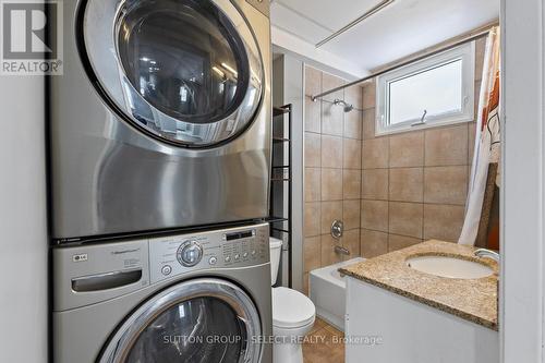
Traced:
[[343, 363], [344, 334], [316, 317], [303, 343], [304, 363]]

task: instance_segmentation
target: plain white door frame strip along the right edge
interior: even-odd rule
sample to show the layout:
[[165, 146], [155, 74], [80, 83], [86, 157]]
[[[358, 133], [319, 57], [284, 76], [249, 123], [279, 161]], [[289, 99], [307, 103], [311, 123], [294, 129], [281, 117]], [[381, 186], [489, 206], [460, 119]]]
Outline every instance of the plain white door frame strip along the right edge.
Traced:
[[501, 0], [501, 362], [545, 362], [544, 3]]

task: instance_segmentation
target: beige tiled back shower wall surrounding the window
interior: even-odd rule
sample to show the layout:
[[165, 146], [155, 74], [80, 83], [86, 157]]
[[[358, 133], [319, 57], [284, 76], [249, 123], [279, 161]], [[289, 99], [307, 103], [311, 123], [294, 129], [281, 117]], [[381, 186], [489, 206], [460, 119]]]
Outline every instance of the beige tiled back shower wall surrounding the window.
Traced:
[[[475, 118], [485, 38], [475, 44]], [[375, 82], [363, 88], [362, 254], [424, 240], [457, 242], [463, 225], [475, 122], [375, 137]]]

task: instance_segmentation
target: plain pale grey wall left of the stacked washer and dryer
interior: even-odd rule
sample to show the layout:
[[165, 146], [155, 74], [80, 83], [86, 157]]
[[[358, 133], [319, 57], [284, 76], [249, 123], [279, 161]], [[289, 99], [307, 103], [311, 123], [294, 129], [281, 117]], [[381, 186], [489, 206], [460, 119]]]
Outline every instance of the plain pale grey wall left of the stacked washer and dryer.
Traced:
[[47, 362], [44, 78], [0, 76], [0, 362]]

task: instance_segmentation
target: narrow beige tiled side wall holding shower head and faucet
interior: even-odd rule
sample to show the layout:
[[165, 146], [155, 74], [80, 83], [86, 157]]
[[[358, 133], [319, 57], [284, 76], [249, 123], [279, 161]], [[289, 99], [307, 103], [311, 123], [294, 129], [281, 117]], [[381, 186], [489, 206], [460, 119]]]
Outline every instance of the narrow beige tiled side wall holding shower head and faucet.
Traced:
[[[313, 102], [311, 96], [342, 84], [343, 80], [305, 66], [304, 133], [304, 281], [310, 270], [339, 262], [336, 244], [360, 255], [360, 191], [362, 149], [362, 88], [360, 86]], [[344, 99], [355, 109], [344, 113], [332, 101]], [[330, 235], [335, 219], [344, 222], [340, 240]]]

